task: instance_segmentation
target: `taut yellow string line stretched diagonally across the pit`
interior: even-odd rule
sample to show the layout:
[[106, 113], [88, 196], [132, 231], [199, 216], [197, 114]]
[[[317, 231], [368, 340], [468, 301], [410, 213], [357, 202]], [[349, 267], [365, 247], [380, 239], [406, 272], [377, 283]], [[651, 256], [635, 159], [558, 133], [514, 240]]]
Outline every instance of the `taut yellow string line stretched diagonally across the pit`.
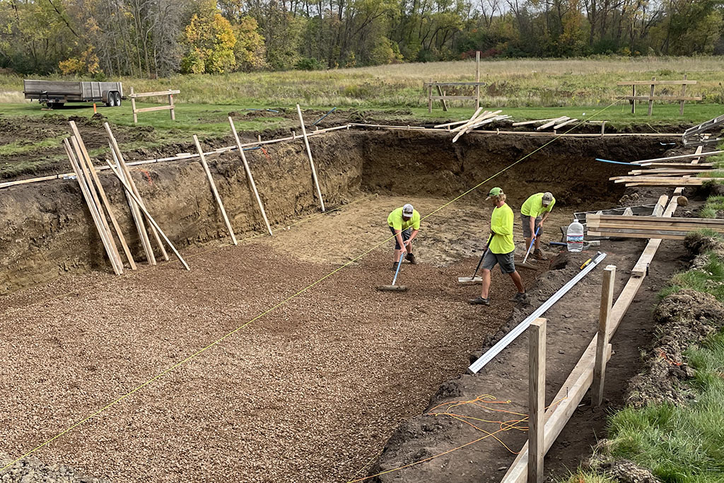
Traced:
[[[597, 112], [597, 114], [594, 114], [594, 116], [596, 116], [596, 115], [598, 115], [598, 114], [602, 114], [602, 112], [605, 112], [606, 109], [610, 108], [610, 107], [613, 106], [614, 104], [615, 104], [615, 102], [613, 102], [612, 104], [609, 104], [609, 105], [606, 106], [604, 109], [601, 109], [599, 112]], [[592, 116], [592, 117], [593, 117], [593, 116]], [[590, 118], [589, 118], [589, 119], [590, 119]], [[505, 171], [507, 171], [508, 169], [510, 169], [510, 168], [512, 168], [513, 166], [515, 166], [516, 164], [520, 163], [521, 161], [523, 161], [523, 159], [526, 159], [526, 158], [528, 158], [529, 156], [531, 156], [532, 154], [535, 154], [537, 151], [540, 151], [542, 148], [548, 146], [550, 143], [552, 143], [552, 142], [554, 142], [555, 140], [560, 139], [561, 137], [563, 137], [563, 135], [570, 133], [571, 130], [575, 129], [576, 127], [583, 125], [584, 122], [586, 122], [586, 121], [585, 121], [585, 120], [584, 120], [584, 121], [581, 121], [580, 123], [578, 123], [578, 125], [575, 125], [575, 126], [571, 127], [571, 129], [569, 129], [569, 130], [566, 131], [565, 133], [560, 134], [560, 135], [556, 135], [552, 140], [548, 141], [547, 143], [545, 143], [544, 145], [540, 146], [539, 148], [536, 148], [534, 151], [531, 151], [529, 154], [526, 154], [526, 155], [523, 156], [521, 159], [518, 159], [518, 161], [515, 161], [515, 162], [513, 162], [513, 164], [510, 164], [508, 167], [505, 167], [505, 168], [501, 169], [499, 172], [495, 173], [495, 174], [492, 175], [491, 177], [488, 177], [487, 180], [484, 180], [484, 181], [482, 181], [482, 182], [479, 182], [477, 185], [473, 186], [473, 188], [470, 188], [469, 190], [467, 190], [466, 192], [464, 192], [464, 193], [461, 194], [460, 196], [456, 196], [455, 198], [452, 198], [452, 200], [448, 201], [447, 203], [443, 204], [442, 206], [439, 206], [439, 208], [435, 209], [435, 210], [432, 211], [430, 214], [427, 214], [425, 217], [422, 217], [422, 218], [421, 218], [421, 221], [424, 220], [424, 219], [426, 219], [426, 218], [428, 218], [428, 217], [432, 217], [433, 214], [437, 213], [438, 211], [444, 209], [444, 208], [447, 207], [447, 206], [450, 206], [450, 204], [454, 203], [455, 201], [458, 201], [460, 198], [463, 198], [463, 196], [466, 196], [468, 193], [471, 193], [473, 190], [476, 190], [477, 188], [479, 188], [480, 186], [484, 185], [484, 184], [485, 184], [486, 182], [488, 182], [489, 180], [492, 180], [494, 177], [497, 177], [498, 175], [502, 174], [503, 172], [505, 172]], [[316, 285], [319, 285], [321, 282], [324, 282], [324, 280], [327, 280], [329, 277], [332, 277], [332, 275], [336, 274], [337, 272], [340, 272], [340, 270], [345, 269], [345, 267], [347, 267], [347, 266], [355, 263], [355, 261], [358, 261], [358, 260], [360, 260], [360, 259], [363, 259], [365, 256], [367, 256], [367, 255], [369, 255], [369, 253], [372, 253], [373, 251], [375, 251], [377, 248], [379, 248], [380, 246], [382, 246], [384, 243], [387, 243], [388, 241], [392, 240], [392, 238], [395, 238], [395, 235], [390, 235], [389, 237], [385, 238], [385, 239], [382, 240], [381, 242], [379, 242], [379, 243], [377, 243], [376, 245], [374, 245], [372, 248], [369, 248], [369, 250], [364, 251], [363, 253], [361, 253], [361, 255], [356, 256], [354, 259], [351, 259], [350, 261], [346, 262], [345, 264], [342, 264], [341, 266], [339, 266], [339, 267], [337, 267], [336, 269], [332, 270], [332, 272], [329, 272], [328, 274], [324, 275], [324, 277], [321, 277], [321, 278], [319, 278], [318, 280], [316, 280], [316, 281], [312, 282], [311, 284], [307, 285], [306, 287], [303, 287], [301, 290], [299, 290], [298, 292], [296, 292], [294, 295], [290, 295], [289, 297], [285, 298], [283, 301], [277, 303], [276, 305], [272, 306], [271, 308], [268, 308], [266, 311], [261, 312], [261, 314], [258, 314], [256, 317], [254, 317], [253, 319], [249, 320], [248, 322], [245, 322], [244, 324], [240, 325], [240, 326], [237, 327], [236, 329], [233, 329], [231, 332], [228, 332], [226, 335], [224, 335], [224, 336], [222, 336], [222, 337], [219, 337], [219, 339], [214, 340], [214, 342], [210, 343], [209, 345], [206, 345], [206, 347], [197, 350], [195, 353], [191, 354], [190, 356], [188, 356], [187, 358], [183, 359], [182, 361], [177, 362], [176, 364], [174, 364], [173, 366], [170, 366], [168, 369], [166, 369], [166, 370], [164, 370], [164, 371], [161, 371], [159, 374], [156, 374], [156, 376], [152, 377], [151, 379], [148, 379], [148, 381], [143, 382], [143, 384], [140, 384], [140, 385], [134, 387], [134, 388], [133, 388], [132, 390], [130, 390], [129, 392], [127, 392], [127, 393], [125, 393], [124, 395], [120, 396], [119, 398], [113, 400], [111, 403], [106, 404], [106, 406], [104, 406], [103, 408], [98, 409], [97, 411], [94, 411], [93, 413], [90, 413], [89, 416], [86, 416], [85, 418], [81, 419], [80, 421], [77, 421], [75, 424], [72, 424], [72, 426], [70, 426], [69, 428], [64, 429], [64, 431], [59, 432], [59, 433], [56, 434], [54, 437], [51, 437], [51, 439], [47, 440], [46, 442], [43, 442], [41, 445], [38, 445], [38, 446], [36, 446], [35, 448], [33, 448], [32, 450], [28, 451], [28, 453], [25, 453], [24, 455], [20, 456], [19, 458], [16, 458], [16, 459], [14, 459], [13, 461], [11, 461], [10, 463], [8, 463], [7, 465], [3, 466], [2, 468], [0, 468], [0, 471], [4, 471], [4, 470], [8, 469], [10, 466], [14, 465], [14, 463], [17, 463], [18, 461], [22, 460], [22, 458], [26, 458], [27, 456], [32, 455], [33, 453], [35, 453], [36, 451], [40, 450], [41, 448], [44, 448], [45, 446], [49, 445], [51, 442], [57, 440], [59, 437], [62, 437], [64, 434], [67, 434], [68, 432], [72, 431], [72, 429], [75, 429], [76, 427], [80, 426], [80, 424], [85, 423], [85, 421], [88, 421], [88, 419], [91, 419], [91, 418], [97, 416], [98, 414], [102, 413], [103, 411], [106, 411], [106, 409], [111, 408], [112, 406], [115, 406], [117, 403], [120, 403], [122, 400], [125, 400], [125, 399], [128, 398], [130, 395], [133, 395], [133, 394], [135, 394], [135, 392], [138, 392], [139, 390], [143, 389], [143, 387], [146, 387], [147, 385], [149, 385], [149, 384], [151, 384], [152, 382], [156, 381], [156, 379], [159, 379], [159, 378], [163, 377], [164, 375], [168, 374], [170, 371], [173, 371], [173, 370], [176, 369], [178, 366], [182, 366], [183, 364], [186, 364], [188, 361], [192, 360], [193, 358], [195, 358], [195, 357], [198, 356], [199, 354], [205, 352], [206, 350], [209, 350], [210, 348], [214, 347], [215, 345], [218, 345], [219, 343], [222, 343], [224, 340], [227, 340], [227, 338], [231, 337], [231, 336], [234, 335], [236, 332], [239, 332], [241, 329], [247, 327], [249, 324], [252, 324], [253, 322], [256, 322], [258, 319], [261, 319], [262, 317], [266, 316], [266, 314], [269, 314], [269, 312], [276, 310], [277, 308], [281, 307], [282, 305], [284, 305], [284, 304], [287, 303], [288, 301], [292, 300], [293, 298], [297, 298], [299, 295], [305, 293], [307, 290], [311, 289], [312, 287], [315, 287]], [[487, 436], [486, 436], [486, 437], [487, 437]], [[468, 445], [469, 445], [469, 444], [472, 444], [472, 442], [471, 442], [471, 443], [468, 443]]]

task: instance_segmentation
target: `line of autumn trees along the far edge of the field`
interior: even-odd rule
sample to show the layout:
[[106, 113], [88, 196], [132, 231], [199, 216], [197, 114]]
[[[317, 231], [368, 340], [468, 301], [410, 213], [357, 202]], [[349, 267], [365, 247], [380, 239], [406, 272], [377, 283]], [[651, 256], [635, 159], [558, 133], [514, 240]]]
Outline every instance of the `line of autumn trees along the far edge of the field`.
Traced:
[[476, 50], [724, 54], [724, 0], [0, 0], [0, 68], [23, 75], [321, 70]]

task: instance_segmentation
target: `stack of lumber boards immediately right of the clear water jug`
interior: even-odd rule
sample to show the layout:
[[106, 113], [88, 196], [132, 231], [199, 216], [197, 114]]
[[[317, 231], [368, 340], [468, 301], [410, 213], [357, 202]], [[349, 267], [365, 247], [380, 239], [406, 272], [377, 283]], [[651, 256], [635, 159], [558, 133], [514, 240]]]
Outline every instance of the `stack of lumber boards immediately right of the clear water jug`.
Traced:
[[696, 230], [707, 229], [724, 233], [724, 219], [715, 218], [623, 217], [591, 214], [586, 217], [586, 226], [589, 236], [601, 237], [683, 240], [686, 233]]

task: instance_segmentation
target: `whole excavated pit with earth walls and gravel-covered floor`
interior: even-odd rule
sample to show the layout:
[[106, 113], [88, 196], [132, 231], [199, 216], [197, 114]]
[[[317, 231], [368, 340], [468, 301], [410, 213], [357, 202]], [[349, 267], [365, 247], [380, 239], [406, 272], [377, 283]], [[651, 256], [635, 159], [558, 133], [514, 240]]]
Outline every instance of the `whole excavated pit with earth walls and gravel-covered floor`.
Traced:
[[[466, 303], [478, 289], [455, 282], [472, 272], [484, 245], [487, 190], [502, 186], [515, 209], [530, 193], [552, 191], [557, 227], [573, 211], [615, 206], [623, 195], [607, 178], [626, 167], [595, 157], [655, 157], [668, 140], [555, 140], [435, 211], [550, 139], [471, 135], [453, 145], [448, 135], [353, 130], [311, 138], [321, 191], [337, 208], [327, 214], [313, 214], [301, 143], [249, 151], [272, 238], [254, 232], [263, 225], [237, 156], [212, 158], [244, 240], [237, 247], [226, 245], [198, 161], [141, 167], [134, 174], [141, 195], [191, 272], [172, 260], [110, 274], [75, 180], [7, 189], [0, 452], [22, 455], [208, 346], [35, 455], [114, 481], [366, 476], [395, 429], [423, 413], [513, 311], [513, 287], [499, 272], [496, 303], [484, 311]], [[107, 175], [103, 182], [132, 234], [117, 182]], [[392, 280], [385, 219], [408, 201], [423, 216], [434, 213], [416, 248], [422, 263], [400, 271], [408, 293], [379, 293], [374, 287]], [[521, 250], [517, 223], [515, 230]], [[546, 236], [559, 240], [557, 232]], [[623, 258], [639, 247], [632, 246]], [[534, 275], [523, 277], [531, 287]]]

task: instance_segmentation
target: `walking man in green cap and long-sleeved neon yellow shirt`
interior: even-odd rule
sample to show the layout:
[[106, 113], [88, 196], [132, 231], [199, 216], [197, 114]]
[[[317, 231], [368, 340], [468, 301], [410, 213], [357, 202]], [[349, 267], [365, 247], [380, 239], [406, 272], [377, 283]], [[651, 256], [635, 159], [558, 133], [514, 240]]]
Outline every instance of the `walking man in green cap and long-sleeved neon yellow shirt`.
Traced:
[[489, 191], [486, 200], [493, 203], [493, 213], [490, 217], [490, 238], [488, 239], [487, 249], [483, 256], [483, 287], [480, 296], [473, 298], [469, 303], [473, 305], [489, 306], [488, 292], [490, 289], [490, 271], [496, 264], [500, 264], [500, 272], [509, 274], [513, 279], [518, 293], [510, 298], [513, 302], [523, 302], [526, 300], [526, 289], [523, 288], [523, 280], [521, 274], [515, 271], [515, 261], [513, 260], [513, 252], [515, 245], [513, 244], [513, 210], [505, 203], [505, 193], [500, 188], [493, 188]]

